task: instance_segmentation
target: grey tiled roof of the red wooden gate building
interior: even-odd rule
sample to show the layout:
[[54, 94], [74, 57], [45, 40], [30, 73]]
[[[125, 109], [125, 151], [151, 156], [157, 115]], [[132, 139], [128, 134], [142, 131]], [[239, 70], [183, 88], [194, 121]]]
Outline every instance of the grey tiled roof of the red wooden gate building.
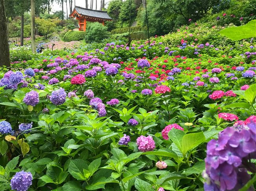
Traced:
[[97, 17], [97, 18], [105, 18], [105, 19], [112, 19], [107, 11], [98, 11], [98, 10], [93, 10], [93, 9], [86, 9], [83, 7], [78, 7], [75, 6], [74, 9], [76, 10], [77, 13], [84, 15], [84, 16], [92, 16], [92, 17]]

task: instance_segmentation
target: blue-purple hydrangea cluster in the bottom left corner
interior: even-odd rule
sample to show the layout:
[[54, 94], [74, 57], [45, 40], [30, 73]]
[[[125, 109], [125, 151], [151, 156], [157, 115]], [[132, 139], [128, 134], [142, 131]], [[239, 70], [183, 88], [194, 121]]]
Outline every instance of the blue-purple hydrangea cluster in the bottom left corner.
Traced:
[[27, 191], [32, 185], [33, 176], [30, 172], [20, 171], [11, 178], [11, 189], [15, 191]]

